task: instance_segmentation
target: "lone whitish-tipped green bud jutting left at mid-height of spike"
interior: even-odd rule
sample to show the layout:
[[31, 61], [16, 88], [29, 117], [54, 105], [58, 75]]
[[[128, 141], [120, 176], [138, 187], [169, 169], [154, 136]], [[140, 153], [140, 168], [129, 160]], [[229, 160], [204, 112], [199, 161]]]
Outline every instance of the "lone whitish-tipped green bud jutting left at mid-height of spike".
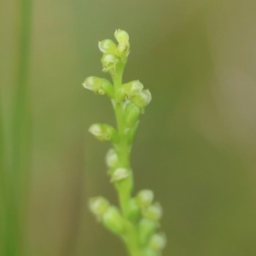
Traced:
[[100, 141], [111, 140], [115, 143], [118, 140], [117, 131], [111, 125], [93, 124], [90, 125], [89, 131]]

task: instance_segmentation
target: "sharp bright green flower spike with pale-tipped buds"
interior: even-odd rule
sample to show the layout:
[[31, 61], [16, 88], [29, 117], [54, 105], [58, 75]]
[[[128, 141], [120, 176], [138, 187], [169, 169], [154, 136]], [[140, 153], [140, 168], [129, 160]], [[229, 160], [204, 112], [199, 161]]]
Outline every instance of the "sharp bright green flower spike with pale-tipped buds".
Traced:
[[143, 84], [138, 80], [123, 84], [122, 76], [130, 53], [129, 35], [117, 30], [114, 36], [118, 45], [110, 39], [99, 43], [103, 53], [102, 71], [111, 75], [113, 84], [108, 79], [89, 77], [83, 85], [96, 94], [107, 95], [113, 104], [117, 129], [111, 125], [94, 124], [89, 131], [99, 140], [113, 144], [106, 162], [110, 181], [119, 195], [120, 209], [98, 196], [90, 199], [90, 210], [108, 230], [125, 242], [131, 256], [157, 256], [166, 245], [166, 236], [156, 233], [162, 209], [154, 202], [151, 190], [143, 189], [132, 196], [134, 181], [130, 163], [138, 119], [151, 101], [151, 94], [149, 90], [143, 90]]

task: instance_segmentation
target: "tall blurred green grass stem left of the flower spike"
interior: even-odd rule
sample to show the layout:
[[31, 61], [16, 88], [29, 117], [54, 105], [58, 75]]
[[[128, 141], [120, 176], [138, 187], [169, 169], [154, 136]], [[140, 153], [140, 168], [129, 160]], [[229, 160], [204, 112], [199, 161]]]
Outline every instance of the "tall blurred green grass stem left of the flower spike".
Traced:
[[31, 113], [29, 111], [29, 61], [32, 25], [32, 0], [17, 5], [17, 62], [12, 120], [11, 172], [9, 172], [9, 220], [6, 256], [26, 255], [25, 236], [28, 213]]

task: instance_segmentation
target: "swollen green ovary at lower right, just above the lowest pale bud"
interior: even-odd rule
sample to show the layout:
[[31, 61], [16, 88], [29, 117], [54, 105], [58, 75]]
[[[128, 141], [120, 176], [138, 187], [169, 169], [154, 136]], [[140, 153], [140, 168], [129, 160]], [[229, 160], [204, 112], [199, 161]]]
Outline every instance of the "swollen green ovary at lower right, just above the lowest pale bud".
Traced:
[[144, 247], [157, 229], [158, 224], [150, 219], [143, 218], [138, 224], [138, 234], [139, 242], [142, 247]]

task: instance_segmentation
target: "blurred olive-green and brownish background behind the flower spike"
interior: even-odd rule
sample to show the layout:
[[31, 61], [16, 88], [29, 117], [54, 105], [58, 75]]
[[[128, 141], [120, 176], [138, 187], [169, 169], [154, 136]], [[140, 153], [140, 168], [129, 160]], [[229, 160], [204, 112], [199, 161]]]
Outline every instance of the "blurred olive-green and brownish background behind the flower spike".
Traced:
[[[0, 1], [5, 151], [17, 3]], [[106, 76], [97, 42], [117, 28], [131, 37], [125, 82], [140, 79], [153, 94], [132, 166], [136, 191], [153, 189], [164, 208], [164, 255], [256, 255], [255, 9], [254, 0], [32, 1], [25, 255], [125, 255], [88, 211], [91, 196], [117, 203], [103, 160], [109, 145], [87, 132], [114, 119], [107, 97], [81, 86], [87, 76]]]

